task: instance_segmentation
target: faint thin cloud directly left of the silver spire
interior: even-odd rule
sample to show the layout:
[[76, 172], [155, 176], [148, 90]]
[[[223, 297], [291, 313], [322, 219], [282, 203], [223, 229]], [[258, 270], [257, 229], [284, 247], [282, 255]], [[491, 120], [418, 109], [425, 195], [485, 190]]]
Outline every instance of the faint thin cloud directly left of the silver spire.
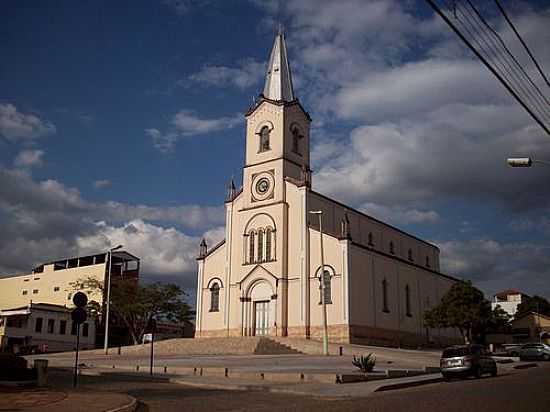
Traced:
[[180, 82], [188, 85], [189, 82], [202, 83], [210, 86], [235, 86], [239, 89], [247, 89], [258, 84], [265, 71], [265, 63], [254, 59], [244, 59], [237, 67], [205, 65], [197, 73], [191, 74], [186, 81]]

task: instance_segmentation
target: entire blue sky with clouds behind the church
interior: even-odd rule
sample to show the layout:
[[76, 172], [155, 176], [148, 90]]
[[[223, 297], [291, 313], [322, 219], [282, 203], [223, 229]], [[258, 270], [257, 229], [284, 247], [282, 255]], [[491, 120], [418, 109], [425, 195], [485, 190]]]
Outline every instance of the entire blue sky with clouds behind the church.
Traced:
[[[550, 67], [550, 9], [509, 3]], [[425, 2], [6, 1], [0, 11], [0, 274], [124, 243], [147, 280], [193, 292], [199, 239], [223, 236], [243, 113], [281, 21], [314, 119], [314, 188], [438, 244], [443, 270], [487, 293], [550, 297], [550, 170], [504, 163], [550, 159], [550, 137]]]

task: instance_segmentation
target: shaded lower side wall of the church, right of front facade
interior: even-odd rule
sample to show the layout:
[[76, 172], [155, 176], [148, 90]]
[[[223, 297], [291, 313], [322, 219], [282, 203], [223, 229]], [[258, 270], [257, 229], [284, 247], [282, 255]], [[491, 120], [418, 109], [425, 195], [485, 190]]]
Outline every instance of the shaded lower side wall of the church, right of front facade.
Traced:
[[349, 278], [352, 343], [416, 347], [460, 342], [456, 331], [426, 330], [423, 322], [424, 312], [439, 302], [452, 279], [355, 244]]

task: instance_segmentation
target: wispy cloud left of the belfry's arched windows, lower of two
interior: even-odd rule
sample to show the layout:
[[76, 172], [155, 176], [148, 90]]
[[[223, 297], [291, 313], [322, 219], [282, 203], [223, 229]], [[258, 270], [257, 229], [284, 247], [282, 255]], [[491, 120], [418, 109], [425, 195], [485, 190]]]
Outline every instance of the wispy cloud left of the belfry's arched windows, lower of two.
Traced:
[[205, 119], [197, 116], [193, 111], [181, 110], [172, 117], [170, 128], [166, 133], [150, 128], [145, 129], [145, 134], [151, 137], [156, 149], [167, 153], [174, 150], [176, 142], [181, 138], [232, 129], [242, 122], [243, 116], [239, 113], [234, 116]]

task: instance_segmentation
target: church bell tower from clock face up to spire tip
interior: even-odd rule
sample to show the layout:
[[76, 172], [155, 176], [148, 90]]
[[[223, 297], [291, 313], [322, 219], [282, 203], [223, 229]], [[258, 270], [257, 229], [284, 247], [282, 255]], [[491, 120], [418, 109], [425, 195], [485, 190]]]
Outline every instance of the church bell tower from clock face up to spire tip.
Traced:
[[294, 94], [280, 30], [269, 56], [263, 93], [246, 113], [243, 188], [249, 191], [251, 203], [279, 201], [285, 178], [300, 181], [309, 176], [310, 123]]

